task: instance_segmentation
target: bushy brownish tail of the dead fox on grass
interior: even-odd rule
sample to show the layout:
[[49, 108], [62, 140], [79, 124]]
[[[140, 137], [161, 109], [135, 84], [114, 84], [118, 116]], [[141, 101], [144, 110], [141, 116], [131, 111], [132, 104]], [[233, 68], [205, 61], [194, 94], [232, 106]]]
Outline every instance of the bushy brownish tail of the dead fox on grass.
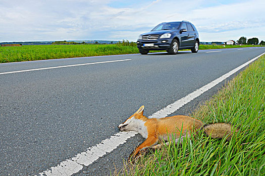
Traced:
[[203, 131], [207, 136], [212, 138], [224, 138], [227, 136], [227, 140], [230, 140], [238, 129], [233, 129], [231, 124], [227, 123], [215, 123], [203, 126]]

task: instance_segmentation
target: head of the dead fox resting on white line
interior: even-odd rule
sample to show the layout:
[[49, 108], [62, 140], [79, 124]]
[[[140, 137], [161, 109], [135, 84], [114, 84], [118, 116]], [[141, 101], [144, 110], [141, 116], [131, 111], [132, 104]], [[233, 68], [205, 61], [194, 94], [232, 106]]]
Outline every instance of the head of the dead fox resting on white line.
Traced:
[[147, 121], [147, 117], [143, 116], [143, 110], [144, 106], [141, 106], [138, 111], [136, 111], [131, 117], [129, 117], [125, 122], [120, 124], [118, 128], [121, 131], [136, 131], [142, 129], [142, 126], [144, 125], [145, 121]]

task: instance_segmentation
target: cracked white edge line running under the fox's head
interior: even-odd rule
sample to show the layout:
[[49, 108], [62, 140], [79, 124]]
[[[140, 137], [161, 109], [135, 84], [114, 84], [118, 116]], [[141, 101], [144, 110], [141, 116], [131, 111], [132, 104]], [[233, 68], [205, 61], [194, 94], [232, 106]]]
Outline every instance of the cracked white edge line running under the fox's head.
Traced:
[[[256, 60], [258, 57], [264, 55], [264, 53], [260, 54], [259, 56], [249, 60], [248, 62], [240, 65], [239, 67], [233, 69], [232, 71], [224, 74], [223, 76], [217, 78], [214, 81], [211, 81], [210, 83], [202, 86], [200, 89], [194, 91], [193, 93], [187, 95], [186, 97], [174, 102], [171, 105], [168, 105], [166, 108], [163, 108], [160, 111], [157, 111], [153, 115], [149, 116], [148, 118], [163, 118], [166, 117], [173, 112], [177, 111], [182, 106], [186, 105], [193, 99], [199, 97], [201, 94], [206, 92], [207, 90], [211, 89], [221, 81], [225, 80], [232, 74], [236, 73], [243, 67], [247, 66], [254, 60]], [[109, 139], [105, 139], [101, 141], [96, 146], [89, 147], [86, 151], [77, 154], [75, 157], [71, 159], [67, 159], [66, 161], [61, 162], [55, 167], [51, 167], [50, 169], [47, 169], [46, 171], [40, 172], [39, 175], [47, 175], [47, 176], [58, 176], [58, 175], [64, 175], [64, 176], [70, 176], [79, 170], [83, 168], [83, 166], [88, 166], [92, 164], [95, 160], [97, 160], [99, 157], [104, 156], [107, 153], [110, 153], [115, 148], [117, 148], [119, 145], [126, 142], [127, 139], [133, 137], [136, 132], [130, 131], [130, 132], [119, 132], [115, 134], [114, 136], [111, 136]]]

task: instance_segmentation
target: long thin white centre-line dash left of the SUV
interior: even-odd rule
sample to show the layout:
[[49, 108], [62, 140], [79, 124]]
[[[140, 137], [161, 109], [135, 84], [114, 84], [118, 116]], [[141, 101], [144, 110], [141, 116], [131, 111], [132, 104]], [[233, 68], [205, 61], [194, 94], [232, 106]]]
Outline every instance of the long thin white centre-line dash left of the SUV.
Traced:
[[64, 65], [64, 66], [54, 66], [54, 67], [36, 68], [36, 69], [19, 70], [19, 71], [9, 71], [9, 72], [3, 72], [0, 74], [10, 74], [10, 73], [19, 73], [19, 72], [27, 72], [27, 71], [46, 70], [46, 69], [54, 69], [54, 68], [65, 68], [65, 67], [72, 67], [72, 66], [93, 65], [93, 64], [99, 64], [99, 63], [122, 62], [122, 61], [128, 61], [128, 60], [132, 60], [132, 59], [111, 60], [111, 61], [103, 61], [103, 62], [92, 62], [92, 63], [82, 63], [82, 64], [75, 64], [75, 65]]

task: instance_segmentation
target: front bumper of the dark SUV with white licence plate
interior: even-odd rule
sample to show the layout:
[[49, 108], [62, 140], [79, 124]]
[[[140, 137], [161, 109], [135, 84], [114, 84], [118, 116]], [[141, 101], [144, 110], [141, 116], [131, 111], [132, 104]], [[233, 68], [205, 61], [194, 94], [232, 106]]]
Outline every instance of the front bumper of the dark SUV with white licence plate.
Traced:
[[171, 41], [172, 39], [169, 38], [152, 41], [137, 40], [137, 48], [140, 50], [168, 50], [170, 48]]

